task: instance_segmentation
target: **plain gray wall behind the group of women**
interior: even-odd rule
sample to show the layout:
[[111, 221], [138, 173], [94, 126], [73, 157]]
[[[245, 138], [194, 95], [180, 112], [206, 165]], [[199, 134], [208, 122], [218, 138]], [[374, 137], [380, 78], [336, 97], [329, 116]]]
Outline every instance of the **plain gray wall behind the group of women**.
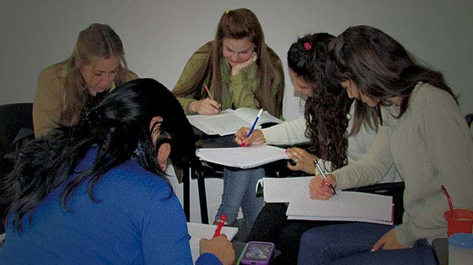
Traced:
[[262, 23], [266, 42], [280, 55], [287, 77], [284, 115], [300, 111], [287, 75], [286, 52], [298, 36], [369, 24], [399, 40], [460, 93], [463, 113], [473, 112], [473, 1], [1, 1], [0, 104], [31, 102], [42, 68], [67, 58], [77, 34], [91, 22], [110, 24], [122, 38], [131, 70], [172, 89], [195, 49], [213, 38], [227, 8], [248, 7]]

